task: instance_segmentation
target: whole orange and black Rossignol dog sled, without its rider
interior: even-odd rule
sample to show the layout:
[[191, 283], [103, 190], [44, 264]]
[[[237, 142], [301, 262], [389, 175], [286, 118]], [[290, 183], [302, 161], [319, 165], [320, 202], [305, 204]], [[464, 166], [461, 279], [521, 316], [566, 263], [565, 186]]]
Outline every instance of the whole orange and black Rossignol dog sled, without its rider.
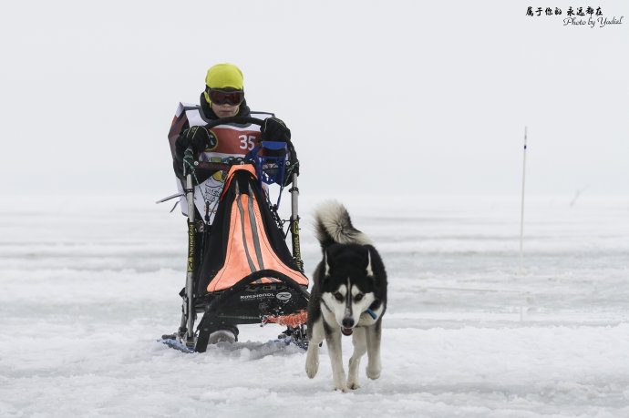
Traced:
[[[229, 124], [262, 125], [253, 117], [227, 117], [206, 127]], [[205, 352], [211, 331], [229, 323], [279, 323], [286, 327], [286, 342], [307, 346], [305, 310], [309, 299], [299, 249], [299, 216], [295, 158], [292, 145], [259, 142], [244, 158], [229, 162], [199, 161], [191, 148], [183, 158], [184, 187], [188, 206], [188, 271], [177, 332], [161, 342], [183, 352]], [[209, 224], [210, 203], [205, 213], [195, 206], [199, 178], [216, 176], [223, 188], [215, 215]], [[269, 186], [280, 186], [277, 203]], [[278, 214], [285, 185], [291, 185], [292, 213], [288, 230]], [[291, 233], [293, 251], [285, 238]], [[197, 318], [201, 318], [195, 330]]]

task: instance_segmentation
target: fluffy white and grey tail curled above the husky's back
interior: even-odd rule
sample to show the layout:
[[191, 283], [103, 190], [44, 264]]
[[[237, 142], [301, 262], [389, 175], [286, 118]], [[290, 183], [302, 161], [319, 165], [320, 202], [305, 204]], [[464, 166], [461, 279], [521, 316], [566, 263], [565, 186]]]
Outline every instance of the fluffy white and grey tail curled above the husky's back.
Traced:
[[345, 206], [335, 200], [326, 201], [314, 211], [314, 230], [321, 247], [337, 244], [372, 244], [369, 237], [354, 228]]

